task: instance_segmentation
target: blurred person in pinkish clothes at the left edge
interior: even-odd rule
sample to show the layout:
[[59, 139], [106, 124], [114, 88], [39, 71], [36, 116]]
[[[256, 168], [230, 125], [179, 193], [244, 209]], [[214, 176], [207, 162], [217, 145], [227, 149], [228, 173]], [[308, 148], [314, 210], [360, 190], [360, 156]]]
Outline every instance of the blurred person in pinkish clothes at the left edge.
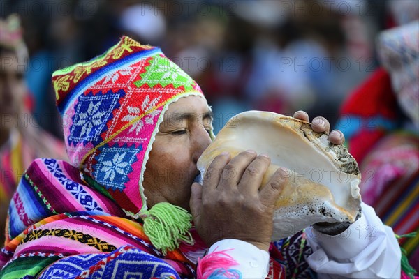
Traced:
[[[43, 131], [31, 115], [31, 94], [24, 81], [27, 48], [17, 15], [0, 20], [0, 227], [3, 231], [10, 198], [32, 160], [67, 158], [63, 143]], [[0, 243], [5, 240], [0, 235]]]

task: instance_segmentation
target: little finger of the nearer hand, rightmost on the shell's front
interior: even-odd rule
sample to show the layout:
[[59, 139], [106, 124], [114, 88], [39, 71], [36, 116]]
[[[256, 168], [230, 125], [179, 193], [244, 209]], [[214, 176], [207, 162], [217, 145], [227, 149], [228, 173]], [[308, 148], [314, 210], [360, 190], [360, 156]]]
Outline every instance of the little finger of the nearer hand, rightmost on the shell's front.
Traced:
[[260, 200], [263, 204], [269, 206], [271, 204], [273, 205], [274, 202], [277, 201], [282, 189], [284, 188], [286, 180], [288, 179], [288, 172], [288, 169], [277, 169], [270, 181], [263, 186], [259, 193]]

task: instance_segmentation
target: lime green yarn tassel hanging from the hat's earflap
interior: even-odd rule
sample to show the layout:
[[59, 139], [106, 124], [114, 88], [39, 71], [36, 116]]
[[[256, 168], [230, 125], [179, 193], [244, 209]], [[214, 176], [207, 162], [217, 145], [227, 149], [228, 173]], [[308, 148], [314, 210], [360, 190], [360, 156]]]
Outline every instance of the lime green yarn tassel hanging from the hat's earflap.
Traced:
[[144, 232], [157, 249], [166, 255], [167, 251], [179, 248], [179, 241], [193, 244], [189, 229], [191, 214], [182, 207], [160, 202], [151, 209], [142, 211]]

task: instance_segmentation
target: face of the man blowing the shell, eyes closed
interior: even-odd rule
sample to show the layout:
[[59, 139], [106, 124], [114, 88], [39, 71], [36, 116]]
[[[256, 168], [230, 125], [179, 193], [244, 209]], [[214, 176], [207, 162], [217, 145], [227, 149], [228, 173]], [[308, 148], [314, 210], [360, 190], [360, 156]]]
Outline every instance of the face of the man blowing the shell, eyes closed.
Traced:
[[199, 174], [198, 158], [212, 142], [212, 116], [199, 96], [169, 105], [159, 126], [144, 174], [147, 206], [169, 202], [189, 210], [191, 186]]

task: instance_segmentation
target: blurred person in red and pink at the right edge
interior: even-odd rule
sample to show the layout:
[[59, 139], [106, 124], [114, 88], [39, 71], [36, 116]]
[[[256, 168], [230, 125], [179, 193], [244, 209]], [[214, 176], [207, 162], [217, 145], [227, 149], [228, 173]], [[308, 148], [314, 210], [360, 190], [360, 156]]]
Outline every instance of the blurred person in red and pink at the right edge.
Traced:
[[416, 232], [400, 242], [419, 269], [419, 22], [405, 24], [418, 18], [419, 2], [406, 7], [395, 13], [404, 25], [378, 35], [381, 68], [346, 100], [337, 128], [360, 164], [362, 199], [396, 234]]

